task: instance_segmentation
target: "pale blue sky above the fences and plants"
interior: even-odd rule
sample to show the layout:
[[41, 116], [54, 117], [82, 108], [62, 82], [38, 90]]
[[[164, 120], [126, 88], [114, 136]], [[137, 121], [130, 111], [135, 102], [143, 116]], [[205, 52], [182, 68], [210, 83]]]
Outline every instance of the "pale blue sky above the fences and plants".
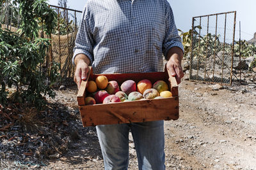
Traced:
[[[172, 6], [177, 28], [184, 32], [191, 29], [192, 17], [227, 11], [237, 11], [236, 40], [239, 39], [239, 22], [241, 22], [241, 39], [250, 40], [256, 32], [256, 0], [168, 0], [168, 2]], [[49, 0], [49, 4], [57, 5], [58, 0]], [[68, 8], [74, 10], [82, 11], [84, 4], [86, 0], [68, 0]], [[212, 18], [212, 25], [215, 25], [214, 20]], [[228, 18], [228, 22], [232, 25], [234, 18]], [[218, 27], [224, 25], [224, 22], [218, 23]]]

